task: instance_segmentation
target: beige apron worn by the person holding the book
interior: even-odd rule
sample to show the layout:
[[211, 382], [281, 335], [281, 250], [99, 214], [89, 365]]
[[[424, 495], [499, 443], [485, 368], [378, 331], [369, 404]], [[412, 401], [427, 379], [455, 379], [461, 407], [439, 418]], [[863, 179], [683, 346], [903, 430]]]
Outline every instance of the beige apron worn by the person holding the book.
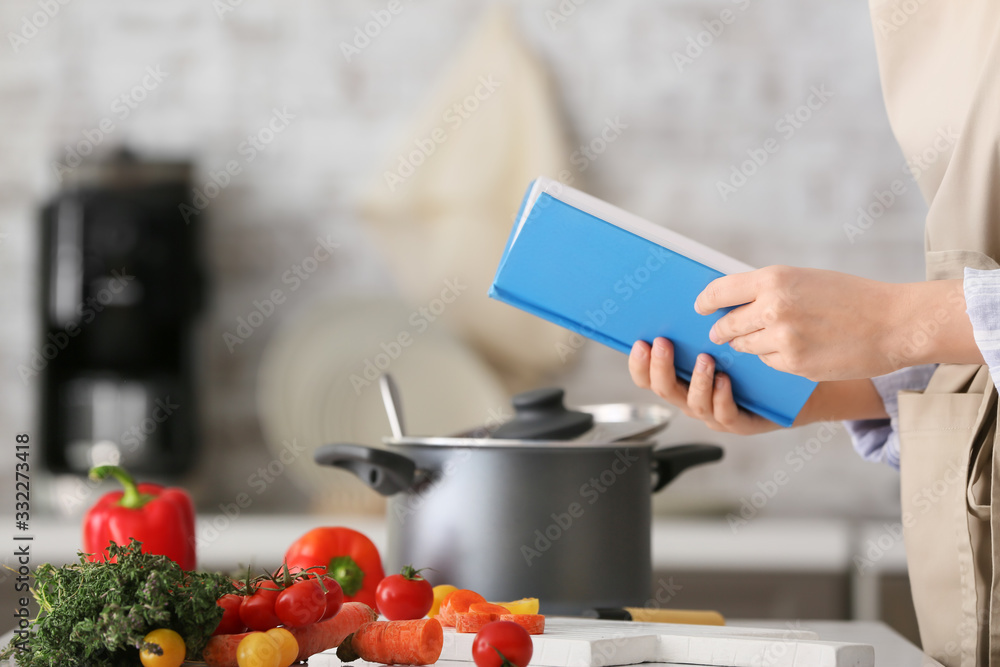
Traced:
[[[871, 0], [893, 132], [928, 202], [928, 280], [1000, 258], [1000, 1]], [[946, 364], [899, 396], [903, 535], [924, 650], [1000, 666], [997, 390]], [[997, 454], [1000, 456], [1000, 454]]]

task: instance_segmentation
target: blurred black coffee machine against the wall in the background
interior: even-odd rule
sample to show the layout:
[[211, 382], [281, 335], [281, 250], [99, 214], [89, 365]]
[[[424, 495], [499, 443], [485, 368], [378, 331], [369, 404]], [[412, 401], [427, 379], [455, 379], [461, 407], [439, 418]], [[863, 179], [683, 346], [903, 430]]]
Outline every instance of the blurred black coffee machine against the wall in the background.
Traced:
[[43, 209], [31, 368], [53, 472], [117, 461], [169, 477], [194, 462], [203, 273], [201, 215], [182, 215], [197, 210], [191, 192], [187, 163], [122, 152], [66, 173]]

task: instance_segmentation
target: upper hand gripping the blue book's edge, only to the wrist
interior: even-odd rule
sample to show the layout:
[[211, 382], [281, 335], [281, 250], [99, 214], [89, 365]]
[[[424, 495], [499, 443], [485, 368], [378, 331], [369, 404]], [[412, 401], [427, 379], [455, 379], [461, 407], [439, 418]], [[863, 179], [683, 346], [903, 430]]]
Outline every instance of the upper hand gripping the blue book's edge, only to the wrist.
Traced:
[[695, 310], [709, 315], [738, 306], [715, 323], [710, 338], [777, 370], [816, 381], [869, 378], [907, 365], [890, 347], [898, 338], [903, 287], [835, 271], [769, 266], [712, 281]]

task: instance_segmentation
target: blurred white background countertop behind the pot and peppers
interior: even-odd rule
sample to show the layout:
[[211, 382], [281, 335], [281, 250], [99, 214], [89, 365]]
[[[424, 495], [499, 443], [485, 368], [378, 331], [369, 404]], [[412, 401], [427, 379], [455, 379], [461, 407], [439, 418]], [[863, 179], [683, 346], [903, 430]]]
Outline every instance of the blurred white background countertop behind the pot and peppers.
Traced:
[[[386, 524], [373, 516], [202, 515], [199, 566], [229, 570], [279, 563], [295, 539], [321, 525], [342, 525], [368, 535], [382, 551]], [[831, 519], [760, 517], [736, 529], [722, 518], [660, 518], [653, 522], [653, 567], [676, 571], [826, 572], [871, 575], [905, 572], [906, 555], [894, 524]], [[74, 520], [38, 519], [32, 561], [75, 560], [80, 526]], [[263, 538], [263, 539], [262, 539]]]

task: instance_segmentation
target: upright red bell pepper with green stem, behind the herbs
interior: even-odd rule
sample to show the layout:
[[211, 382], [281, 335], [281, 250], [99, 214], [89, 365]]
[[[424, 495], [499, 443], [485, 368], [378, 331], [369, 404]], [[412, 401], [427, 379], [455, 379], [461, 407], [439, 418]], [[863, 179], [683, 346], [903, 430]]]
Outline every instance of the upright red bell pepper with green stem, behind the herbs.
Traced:
[[123, 468], [98, 466], [90, 477], [111, 475], [125, 487], [101, 497], [83, 518], [83, 550], [90, 561], [107, 559], [109, 542], [120, 545], [130, 538], [142, 542], [143, 553], [160, 554], [184, 570], [193, 570], [195, 556], [194, 505], [183, 489], [159, 484], [136, 484]]

